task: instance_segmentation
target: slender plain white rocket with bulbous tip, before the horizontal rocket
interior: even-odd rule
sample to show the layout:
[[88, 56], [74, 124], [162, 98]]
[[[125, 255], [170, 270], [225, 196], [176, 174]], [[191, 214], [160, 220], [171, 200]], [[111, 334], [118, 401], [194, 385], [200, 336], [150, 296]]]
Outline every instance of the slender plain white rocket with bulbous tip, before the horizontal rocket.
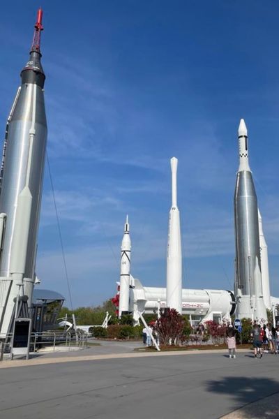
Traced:
[[180, 216], [177, 207], [176, 157], [170, 159], [172, 168], [172, 207], [169, 211], [169, 235], [167, 240], [167, 307], [182, 312], [182, 256]]

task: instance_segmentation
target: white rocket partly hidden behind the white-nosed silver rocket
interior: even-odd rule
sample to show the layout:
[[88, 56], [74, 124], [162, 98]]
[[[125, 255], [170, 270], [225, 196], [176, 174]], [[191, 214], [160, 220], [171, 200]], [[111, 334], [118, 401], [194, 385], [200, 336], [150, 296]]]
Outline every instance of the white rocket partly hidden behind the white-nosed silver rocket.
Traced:
[[262, 267], [262, 294], [264, 297], [264, 304], [266, 309], [271, 308], [270, 288], [269, 288], [269, 256], [267, 251], [267, 244], [264, 238], [264, 231], [262, 230], [262, 216], [258, 210], [259, 215], [259, 253], [261, 256]]

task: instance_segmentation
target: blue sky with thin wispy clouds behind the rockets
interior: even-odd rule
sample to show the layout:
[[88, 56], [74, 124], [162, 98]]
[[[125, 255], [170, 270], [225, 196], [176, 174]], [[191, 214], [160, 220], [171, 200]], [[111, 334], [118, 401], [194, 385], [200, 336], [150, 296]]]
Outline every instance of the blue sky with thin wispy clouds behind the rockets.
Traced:
[[[279, 296], [278, 1], [5, 2], [3, 134], [38, 6], [47, 150], [74, 307], [115, 294], [126, 214], [133, 276], [165, 286], [172, 156], [183, 287], [232, 289], [240, 118]], [[41, 287], [68, 300], [47, 170], [38, 243]]]

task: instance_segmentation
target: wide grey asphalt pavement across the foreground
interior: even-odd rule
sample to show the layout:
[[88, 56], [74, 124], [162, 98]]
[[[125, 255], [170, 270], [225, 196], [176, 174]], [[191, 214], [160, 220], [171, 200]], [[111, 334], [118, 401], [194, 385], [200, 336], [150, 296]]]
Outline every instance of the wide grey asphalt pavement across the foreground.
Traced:
[[[233, 418], [279, 417], [279, 355], [126, 355], [0, 369], [0, 418], [216, 419], [239, 408]], [[268, 411], [253, 407], [271, 395]]]

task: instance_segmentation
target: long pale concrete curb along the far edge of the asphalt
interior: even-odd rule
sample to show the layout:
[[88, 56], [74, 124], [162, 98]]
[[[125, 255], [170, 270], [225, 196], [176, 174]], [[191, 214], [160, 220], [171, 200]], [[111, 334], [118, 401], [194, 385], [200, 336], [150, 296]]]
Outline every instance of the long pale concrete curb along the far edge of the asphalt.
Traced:
[[[238, 353], [248, 352], [248, 349], [238, 349]], [[31, 367], [31, 365], [47, 365], [60, 364], [65, 362], [80, 362], [80, 361], [98, 361], [98, 360], [113, 360], [123, 358], [146, 358], [158, 356], [174, 356], [174, 355], [200, 355], [206, 353], [227, 353], [227, 349], [204, 349], [202, 351], [169, 351], [169, 352], [151, 352], [151, 353], [110, 353], [106, 355], [82, 355], [59, 358], [33, 358], [30, 360], [13, 360], [1, 361], [1, 368], [15, 368], [15, 367]]]

